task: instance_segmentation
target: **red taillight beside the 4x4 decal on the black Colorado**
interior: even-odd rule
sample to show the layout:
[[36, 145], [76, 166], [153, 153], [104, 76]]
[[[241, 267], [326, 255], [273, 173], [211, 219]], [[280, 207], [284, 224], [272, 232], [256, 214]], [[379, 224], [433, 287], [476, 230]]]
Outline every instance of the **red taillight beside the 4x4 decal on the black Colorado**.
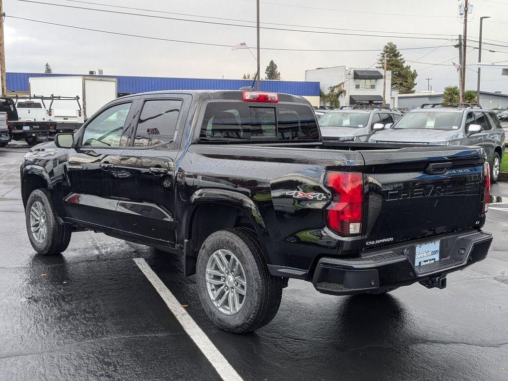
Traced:
[[326, 211], [328, 227], [343, 236], [360, 234], [363, 175], [355, 172], [328, 172], [325, 184], [333, 194]]

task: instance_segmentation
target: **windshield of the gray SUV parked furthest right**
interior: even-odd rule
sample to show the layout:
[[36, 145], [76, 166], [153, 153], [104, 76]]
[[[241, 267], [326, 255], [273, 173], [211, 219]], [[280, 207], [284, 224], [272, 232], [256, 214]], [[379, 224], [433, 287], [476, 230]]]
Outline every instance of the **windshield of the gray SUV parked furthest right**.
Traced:
[[394, 125], [394, 130], [458, 130], [462, 123], [461, 112], [429, 111], [408, 112]]

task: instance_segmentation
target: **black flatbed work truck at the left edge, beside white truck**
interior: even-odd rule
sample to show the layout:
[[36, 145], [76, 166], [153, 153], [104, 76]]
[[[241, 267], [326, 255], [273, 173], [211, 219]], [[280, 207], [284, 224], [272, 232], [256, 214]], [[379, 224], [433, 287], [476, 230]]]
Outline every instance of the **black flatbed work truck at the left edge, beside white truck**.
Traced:
[[12, 140], [24, 140], [28, 145], [48, 141], [54, 137], [56, 122], [50, 120], [19, 120], [12, 98], [0, 97], [0, 112], [7, 113], [7, 126]]

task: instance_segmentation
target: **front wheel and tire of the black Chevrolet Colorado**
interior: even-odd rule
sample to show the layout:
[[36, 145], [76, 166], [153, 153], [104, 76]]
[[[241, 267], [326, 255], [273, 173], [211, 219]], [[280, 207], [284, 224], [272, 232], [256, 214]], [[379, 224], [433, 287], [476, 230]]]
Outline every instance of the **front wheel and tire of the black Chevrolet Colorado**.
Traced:
[[[43, 220], [44, 231], [37, 230]], [[56, 219], [53, 203], [46, 189], [36, 189], [28, 197], [25, 208], [26, 232], [35, 251], [43, 256], [52, 256], [65, 251], [71, 241], [72, 230], [60, 225]], [[36, 225], [32, 230], [32, 225]]]

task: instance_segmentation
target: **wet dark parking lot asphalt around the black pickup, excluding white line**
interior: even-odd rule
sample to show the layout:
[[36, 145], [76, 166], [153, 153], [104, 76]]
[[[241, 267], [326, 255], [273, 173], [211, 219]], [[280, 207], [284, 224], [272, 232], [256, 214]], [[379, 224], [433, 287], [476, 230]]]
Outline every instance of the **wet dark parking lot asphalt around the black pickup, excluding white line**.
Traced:
[[36, 255], [19, 190], [27, 149], [0, 148], [0, 380], [221, 379], [134, 258], [244, 380], [508, 379], [506, 183], [492, 186], [487, 259], [446, 289], [335, 297], [290, 280], [269, 325], [233, 335], [209, 321], [178, 257], [92, 232], [61, 256]]

